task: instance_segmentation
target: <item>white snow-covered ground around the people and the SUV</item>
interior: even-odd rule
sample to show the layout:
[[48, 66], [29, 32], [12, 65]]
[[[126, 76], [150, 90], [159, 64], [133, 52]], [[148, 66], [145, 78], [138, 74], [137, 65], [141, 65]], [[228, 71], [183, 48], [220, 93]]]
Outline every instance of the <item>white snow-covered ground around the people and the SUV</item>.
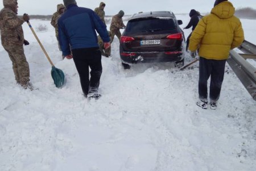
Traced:
[[[176, 17], [182, 28], [189, 21]], [[256, 43], [256, 20], [241, 21], [246, 40]], [[26, 23], [24, 49], [38, 90], [15, 84], [0, 47], [1, 171], [256, 170], [256, 103], [228, 64], [217, 110], [203, 110], [195, 105], [198, 64], [184, 71], [170, 63], [123, 70], [115, 37], [112, 57], [102, 57], [102, 98], [88, 102], [73, 60], [61, 60], [49, 21], [31, 20], [33, 27], [40, 23], [48, 31], [37, 32], [39, 39], [67, 83], [55, 87]], [[192, 60], [186, 55], [186, 63]]]

